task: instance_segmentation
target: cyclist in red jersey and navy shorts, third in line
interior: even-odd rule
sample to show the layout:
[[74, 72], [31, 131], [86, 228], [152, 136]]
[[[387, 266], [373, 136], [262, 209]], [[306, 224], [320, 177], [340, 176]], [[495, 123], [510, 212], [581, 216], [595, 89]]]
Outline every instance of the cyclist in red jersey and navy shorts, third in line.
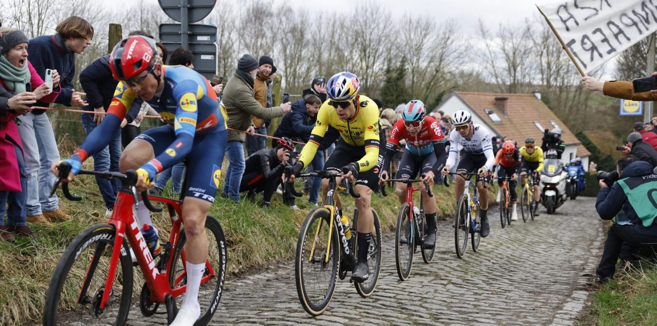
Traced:
[[[401, 161], [399, 161], [396, 179], [411, 179], [421, 171], [425, 173], [422, 180], [426, 181], [431, 187], [434, 184], [434, 176], [442, 169], [447, 159], [442, 129], [440, 129], [436, 119], [426, 116], [424, 103], [419, 100], [406, 103], [401, 117], [392, 126], [390, 137], [386, 142], [386, 153], [380, 182], [384, 183], [388, 180], [390, 161], [397, 151], [399, 140], [406, 139], [406, 151], [404, 151]], [[396, 185], [397, 198], [399, 198], [400, 203], [406, 200], [406, 187], [405, 183], [398, 182]], [[424, 183], [420, 185], [420, 188], [422, 190], [422, 202], [424, 203], [427, 226], [424, 247], [431, 249], [436, 245], [436, 211], [438, 206], [436, 205], [436, 199], [430, 198], [426, 194]]]

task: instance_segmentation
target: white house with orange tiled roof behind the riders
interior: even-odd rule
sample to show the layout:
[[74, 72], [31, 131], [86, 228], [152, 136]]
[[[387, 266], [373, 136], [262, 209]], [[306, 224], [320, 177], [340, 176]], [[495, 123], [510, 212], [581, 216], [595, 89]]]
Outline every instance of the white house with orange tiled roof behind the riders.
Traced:
[[493, 136], [506, 136], [518, 141], [520, 146], [527, 137], [533, 137], [537, 145], [541, 145], [545, 128], [559, 128], [562, 130], [561, 139], [566, 143], [562, 160], [570, 162], [579, 156], [582, 165], [588, 167], [591, 153], [581, 145], [566, 124], [540, 100], [540, 95], [455, 91], [434, 111], [442, 110], [445, 115], [451, 116], [459, 109], [468, 109], [472, 112], [474, 123], [486, 126]]

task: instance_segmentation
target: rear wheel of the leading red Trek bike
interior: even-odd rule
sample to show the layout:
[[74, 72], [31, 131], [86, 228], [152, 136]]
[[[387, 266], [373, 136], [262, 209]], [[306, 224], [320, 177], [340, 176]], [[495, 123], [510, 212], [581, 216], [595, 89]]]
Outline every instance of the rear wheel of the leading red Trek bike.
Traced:
[[[223, 293], [223, 283], [226, 276], [226, 239], [223, 234], [223, 228], [217, 219], [208, 215], [205, 222], [206, 236], [208, 237], [208, 259], [206, 263], [210, 263], [214, 276], [211, 276], [207, 281], [201, 283], [198, 290], [198, 303], [201, 307], [201, 315], [194, 323], [194, 326], [204, 326], [210, 322], [212, 316], [217, 311], [221, 294]], [[169, 286], [171, 289], [176, 289], [187, 283], [187, 276], [185, 276], [185, 262], [181, 255], [185, 247], [187, 236], [184, 228], [180, 230], [180, 240], [175, 244], [173, 255], [171, 256], [171, 264], [168, 270]], [[206, 266], [206, 271], [203, 276], [208, 276], [210, 270]], [[183, 295], [175, 298], [177, 302], [182, 302]], [[179, 308], [179, 307], [178, 307]]]

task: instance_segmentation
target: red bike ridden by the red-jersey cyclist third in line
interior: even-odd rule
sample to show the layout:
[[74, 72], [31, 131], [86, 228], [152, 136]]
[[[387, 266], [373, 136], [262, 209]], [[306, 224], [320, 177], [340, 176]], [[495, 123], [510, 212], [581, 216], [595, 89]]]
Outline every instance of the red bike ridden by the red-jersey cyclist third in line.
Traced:
[[[424, 173], [422, 173], [424, 179]], [[413, 192], [420, 189], [413, 186], [413, 183], [424, 182], [422, 180], [413, 179], [390, 179], [389, 182], [405, 183], [406, 184], [406, 200], [399, 208], [399, 215], [397, 215], [397, 228], [395, 230], [395, 263], [397, 265], [397, 276], [399, 280], [405, 281], [411, 274], [411, 267], [413, 266], [413, 255], [420, 247], [422, 259], [424, 263], [431, 263], [434, 259], [434, 252], [436, 246], [432, 248], [424, 247], [424, 237], [427, 236], [426, 219], [424, 218], [424, 202], [420, 196], [420, 209], [419, 213], [415, 213], [413, 205]], [[424, 189], [430, 198], [434, 197], [431, 188], [424, 182]], [[381, 187], [383, 196], [388, 196], [386, 193], [385, 185]]]

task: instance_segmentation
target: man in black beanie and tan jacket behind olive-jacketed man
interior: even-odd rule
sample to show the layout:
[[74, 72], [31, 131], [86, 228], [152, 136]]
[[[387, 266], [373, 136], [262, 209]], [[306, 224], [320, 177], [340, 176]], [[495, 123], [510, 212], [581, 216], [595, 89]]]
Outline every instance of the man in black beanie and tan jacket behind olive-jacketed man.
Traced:
[[[270, 56], [261, 56], [258, 61], [258, 74], [256, 75], [256, 80], [254, 81], [253, 90], [256, 94], [256, 101], [262, 105], [262, 107], [267, 107], [267, 79], [274, 67], [274, 60]], [[252, 117], [254, 127], [256, 128], [256, 134], [266, 135], [267, 134], [267, 121], [259, 117]], [[265, 148], [265, 137], [261, 136], [246, 136], [246, 152], [249, 156], [261, 149]]]

